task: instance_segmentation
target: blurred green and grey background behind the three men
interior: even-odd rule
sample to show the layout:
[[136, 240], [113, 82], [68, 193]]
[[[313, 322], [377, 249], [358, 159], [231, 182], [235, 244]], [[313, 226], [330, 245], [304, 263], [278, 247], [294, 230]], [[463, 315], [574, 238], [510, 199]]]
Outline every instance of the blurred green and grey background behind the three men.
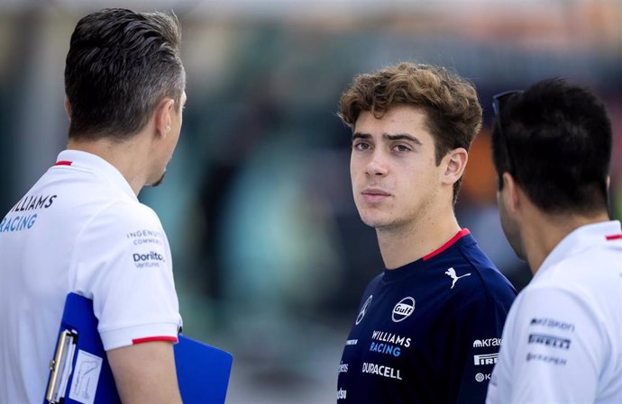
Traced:
[[412, 60], [474, 82], [485, 123], [456, 213], [517, 289], [530, 275], [499, 225], [492, 94], [551, 76], [593, 88], [614, 124], [622, 216], [619, 0], [0, 0], [0, 211], [64, 148], [69, 36], [107, 6], [172, 9], [183, 25], [182, 136], [166, 181], [141, 199], [169, 235], [186, 333], [235, 357], [228, 404], [336, 400], [356, 306], [383, 268], [335, 116], [355, 74]]

